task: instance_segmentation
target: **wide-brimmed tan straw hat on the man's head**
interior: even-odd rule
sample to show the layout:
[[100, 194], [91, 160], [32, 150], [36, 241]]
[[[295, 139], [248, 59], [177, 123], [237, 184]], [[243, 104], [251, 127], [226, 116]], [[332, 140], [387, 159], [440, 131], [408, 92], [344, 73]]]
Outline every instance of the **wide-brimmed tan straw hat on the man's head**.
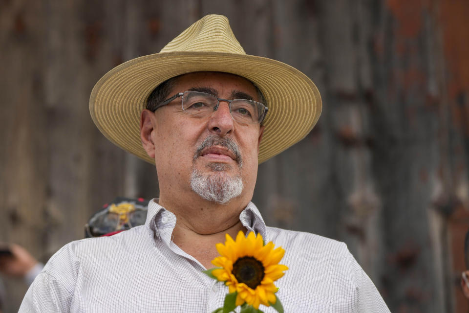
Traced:
[[114, 67], [94, 86], [91, 117], [107, 139], [150, 162], [140, 139], [140, 113], [151, 91], [171, 77], [197, 71], [236, 74], [253, 82], [269, 108], [259, 146], [259, 163], [304, 138], [321, 113], [314, 83], [298, 69], [268, 58], [247, 55], [228, 19], [207, 15], [174, 38], [159, 53]]

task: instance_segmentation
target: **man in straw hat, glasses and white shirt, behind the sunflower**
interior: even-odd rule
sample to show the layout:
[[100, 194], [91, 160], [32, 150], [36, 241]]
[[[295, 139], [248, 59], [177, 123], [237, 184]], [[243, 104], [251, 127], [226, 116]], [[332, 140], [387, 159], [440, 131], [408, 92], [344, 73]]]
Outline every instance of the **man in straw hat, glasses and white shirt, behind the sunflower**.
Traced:
[[112, 69], [92, 91], [91, 116], [156, 165], [159, 199], [145, 225], [59, 250], [20, 312], [213, 312], [228, 288], [202, 271], [239, 230], [285, 249], [289, 269], [276, 282], [285, 312], [389, 312], [345, 244], [267, 227], [250, 202], [258, 162], [308, 134], [320, 111], [309, 78], [246, 55], [222, 16]]

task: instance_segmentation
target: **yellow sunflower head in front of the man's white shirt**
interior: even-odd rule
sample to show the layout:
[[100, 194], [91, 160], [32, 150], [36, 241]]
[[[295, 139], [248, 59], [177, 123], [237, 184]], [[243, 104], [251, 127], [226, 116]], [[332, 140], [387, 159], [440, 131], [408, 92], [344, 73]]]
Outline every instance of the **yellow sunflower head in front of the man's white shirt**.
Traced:
[[[269, 242], [264, 245], [262, 236], [250, 232], [247, 237], [242, 231], [236, 241], [226, 234], [225, 245], [217, 244], [219, 257], [212, 264], [218, 268], [211, 270], [219, 281], [224, 281], [230, 293], [236, 292], [235, 306], [247, 304], [255, 309], [259, 304], [274, 305], [278, 288], [274, 281], [283, 276], [288, 267], [278, 264], [285, 253], [281, 247], [274, 249]], [[279, 303], [278, 303], [279, 304]]]

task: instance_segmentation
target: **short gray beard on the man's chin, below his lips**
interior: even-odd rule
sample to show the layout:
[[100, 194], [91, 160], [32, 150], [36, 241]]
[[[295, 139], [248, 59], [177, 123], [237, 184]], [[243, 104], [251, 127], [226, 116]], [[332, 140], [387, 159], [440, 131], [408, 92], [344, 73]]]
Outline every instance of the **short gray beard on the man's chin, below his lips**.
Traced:
[[222, 166], [212, 168], [213, 173], [205, 175], [194, 169], [191, 174], [191, 187], [203, 199], [223, 204], [239, 196], [244, 184], [238, 175], [230, 177], [224, 172], [223, 165], [225, 164], [218, 163], [217, 165]]

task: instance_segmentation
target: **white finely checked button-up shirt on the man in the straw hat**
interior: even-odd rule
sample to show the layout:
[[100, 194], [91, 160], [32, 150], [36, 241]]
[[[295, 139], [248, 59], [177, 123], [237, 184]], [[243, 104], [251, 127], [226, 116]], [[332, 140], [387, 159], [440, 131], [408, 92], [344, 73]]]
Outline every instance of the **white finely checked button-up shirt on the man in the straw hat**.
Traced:
[[[286, 313], [389, 312], [344, 243], [266, 227], [252, 202], [239, 219], [285, 249], [280, 264], [289, 269], [276, 286]], [[36, 277], [19, 312], [211, 313], [222, 307], [228, 288], [171, 241], [175, 224], [174, 214], [152, 200], [145, 225], [65, 245]]]

